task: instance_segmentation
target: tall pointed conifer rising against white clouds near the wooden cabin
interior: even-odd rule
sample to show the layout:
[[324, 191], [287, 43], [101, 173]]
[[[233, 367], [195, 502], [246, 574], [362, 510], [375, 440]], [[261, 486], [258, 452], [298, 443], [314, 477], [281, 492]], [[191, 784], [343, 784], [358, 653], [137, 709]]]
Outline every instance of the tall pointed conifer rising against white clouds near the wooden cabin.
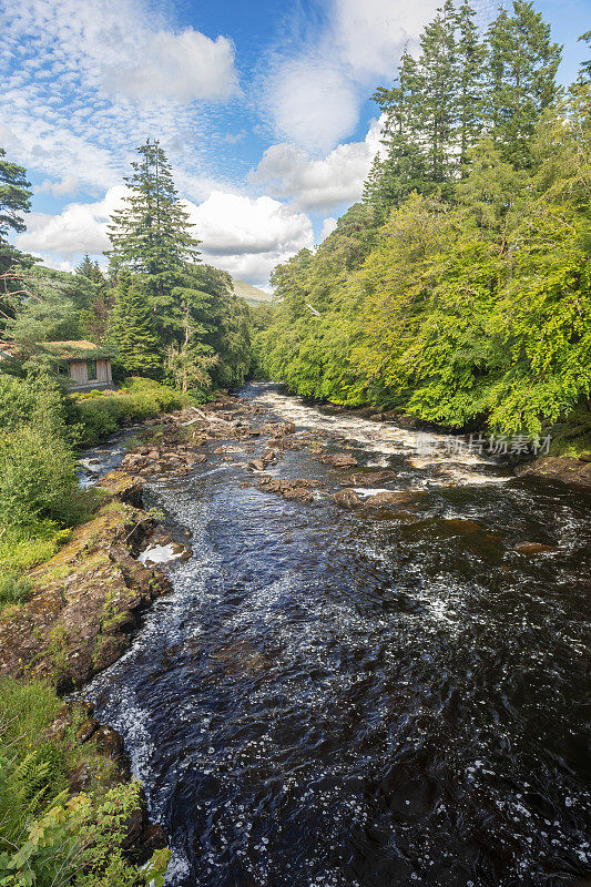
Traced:
[[108, 227], [110, 255], [116, 266], [142, 276], [150, 310], [157, 315], [165, 338], [182, 327], [172, 289], [185, 263], [197, 261], [198, 242], [190, 234], [188, 213], [179, 200], [164, 151], [147, 140], [137, 153], [133, 174], [125, 179], [131, 193]]

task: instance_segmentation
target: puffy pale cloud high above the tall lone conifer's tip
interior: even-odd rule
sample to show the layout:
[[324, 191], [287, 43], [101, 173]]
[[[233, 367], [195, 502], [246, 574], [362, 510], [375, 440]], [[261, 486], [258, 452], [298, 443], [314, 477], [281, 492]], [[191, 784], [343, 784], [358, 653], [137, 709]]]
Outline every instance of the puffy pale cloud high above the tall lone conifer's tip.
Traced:
[[223, 100], [240, 92], [234, 49], [225, 37], [211, 40], [187, 28], [179, 34], [159, 31], [105, 64], [110, 89], [136, 101]]

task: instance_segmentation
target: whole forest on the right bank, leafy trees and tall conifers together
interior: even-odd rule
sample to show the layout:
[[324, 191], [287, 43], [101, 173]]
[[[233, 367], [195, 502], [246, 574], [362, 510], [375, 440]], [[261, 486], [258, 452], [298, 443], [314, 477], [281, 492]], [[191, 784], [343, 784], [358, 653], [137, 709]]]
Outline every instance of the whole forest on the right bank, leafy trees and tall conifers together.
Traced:
[[531, 2], [482, 38], [447, 0], [374, 95], [363, 201], [274, 272], [271, 378], [454, 428], [589, 426], [591, 63], [563, 90], [560, 58]]

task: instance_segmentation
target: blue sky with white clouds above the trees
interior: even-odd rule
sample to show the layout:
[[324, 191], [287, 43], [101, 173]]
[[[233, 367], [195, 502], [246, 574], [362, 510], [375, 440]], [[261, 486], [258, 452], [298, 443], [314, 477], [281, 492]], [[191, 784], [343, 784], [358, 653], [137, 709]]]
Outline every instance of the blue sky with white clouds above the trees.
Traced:
[[[357, 201], [379, 149], [370, 95], [440, 0], [0, 0], [0, 146], [32, 183], [17, 245], [104, 262], [134, 149], [160, 140], [203, 258], [268, 288]], [[479, 19], [495, 0], [476, 0]], [[585, 57], [591, 0], [538, 0]]]

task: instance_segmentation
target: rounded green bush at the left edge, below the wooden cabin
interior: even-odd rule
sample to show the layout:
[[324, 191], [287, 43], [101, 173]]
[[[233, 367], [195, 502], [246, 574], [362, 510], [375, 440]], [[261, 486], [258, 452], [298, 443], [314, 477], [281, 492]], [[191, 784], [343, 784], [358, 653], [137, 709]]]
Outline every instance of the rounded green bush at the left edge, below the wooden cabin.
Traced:
[[32, 426], [0, 434], [0, 524], [22, 527], [40, 518], [71, 523], [83, 513], [84, 499], [63, 438]]

